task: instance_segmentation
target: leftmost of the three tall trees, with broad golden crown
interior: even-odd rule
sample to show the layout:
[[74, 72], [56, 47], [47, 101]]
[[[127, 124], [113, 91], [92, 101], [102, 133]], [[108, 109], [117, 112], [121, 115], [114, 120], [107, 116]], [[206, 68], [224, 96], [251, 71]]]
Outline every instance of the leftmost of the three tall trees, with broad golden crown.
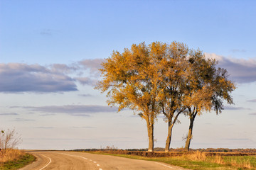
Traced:
[[107, 91], [107, 103], [118, 106], [118, 111], [130, 108], [146, 120], [149, 137], [149, 152], [154, 152], [154, 121], [159, 114], [156, 97], [159, 94], [159, 65], [163, 57], [164, 45], [144, 42], [132, 45], [124, 52], [113, 52], [102, 63], [102, 81], [96, 89]]

